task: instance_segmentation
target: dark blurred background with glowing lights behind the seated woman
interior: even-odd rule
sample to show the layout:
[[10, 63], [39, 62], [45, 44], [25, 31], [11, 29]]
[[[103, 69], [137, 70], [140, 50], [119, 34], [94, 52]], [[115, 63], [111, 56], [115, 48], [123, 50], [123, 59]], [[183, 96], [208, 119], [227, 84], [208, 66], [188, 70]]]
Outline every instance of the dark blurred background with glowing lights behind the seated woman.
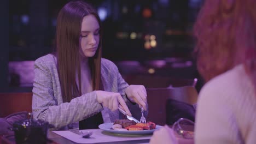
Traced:
[[[32, 62], [53, 52], [56, 17], [68, 1], [71, 0], [4, 0], [0, 3], [3, 11], [1, 12], [3, 20], [0, 24], [2, 30], [0, 44], [3, 47], [0, 54], [2, 67], [0, 92], [31, 92]], [[141, 71], [136, 73], [148, 74], [148, 69], [154, 68], [154, 75], [158, 76], [189, 79], [197, 77], [194, 61], [191, 58], [194, 47], [191, 26], [202, 0], [86, 1], [97, 9], [107, 11], [106, 19], [102, 20], [102, 56], [115, 63], [136, 61], [135, 63], [141, 65], [130, 70], [127, 68], [124, 71], [120, 70], [122, 75], [136, 69], [143, 69], [143, 73]], [[132, 33], [137, 37], [132, 39], [130, 37]], [[152, 40], [151, 36], [155, 38]], [[151, 45], [151, 41], [155, 41], [156, 45], [147, 48], [146, 42], [147, 44], [150, 42]], [[177, 59], [175, 63], [179, 67], [174, 67], [173, 58]], [[166, 64], [158, 68], [159, 63], [156, 63], [155, 68], [154, 61], [158, 60], [160, 65], [161, 62]], [[181, 65], [192, 70], [183, 70], [180, 68]], [[119, 69], [123, 67], [126, 65], [118, 65]], [[4, 90], [5, 87], [8, 90]]]

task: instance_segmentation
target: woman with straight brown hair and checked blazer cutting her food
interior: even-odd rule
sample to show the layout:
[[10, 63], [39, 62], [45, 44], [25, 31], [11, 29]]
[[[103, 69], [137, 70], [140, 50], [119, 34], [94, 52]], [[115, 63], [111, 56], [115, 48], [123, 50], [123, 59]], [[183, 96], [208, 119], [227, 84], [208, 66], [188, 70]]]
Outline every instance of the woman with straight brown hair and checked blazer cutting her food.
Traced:
[[97, 128], [119, 119], [119, 106], [128, 115], [129, 108], [147, 110], [145, 87], [129, 86], [116, 65], [101, 58], [101, 31], [88, 3], [71, 1], [60, 10], [56, 52], [34, 64], [33, 116], [55, 125], [51, 130]]

